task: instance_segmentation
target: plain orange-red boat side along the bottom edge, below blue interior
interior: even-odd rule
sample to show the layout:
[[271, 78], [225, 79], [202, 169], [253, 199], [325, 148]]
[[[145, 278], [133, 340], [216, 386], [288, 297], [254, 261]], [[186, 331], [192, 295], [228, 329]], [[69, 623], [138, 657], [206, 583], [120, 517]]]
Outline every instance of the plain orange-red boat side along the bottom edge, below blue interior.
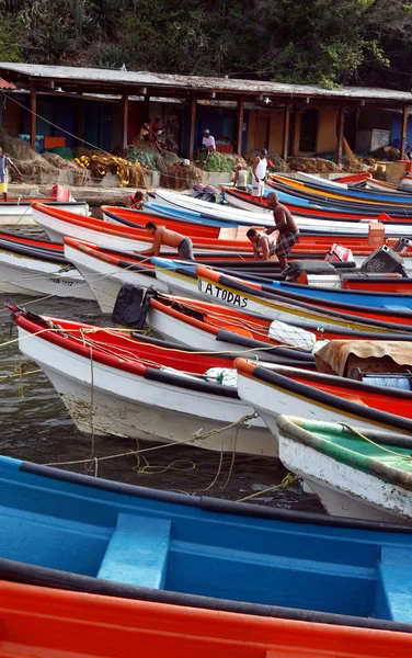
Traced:
[[[9, 658], [403, 658], [409, 633], [265, 619], [0, 581], [0, 650]], [[161, 633], [159, 633], [161, 628]]]

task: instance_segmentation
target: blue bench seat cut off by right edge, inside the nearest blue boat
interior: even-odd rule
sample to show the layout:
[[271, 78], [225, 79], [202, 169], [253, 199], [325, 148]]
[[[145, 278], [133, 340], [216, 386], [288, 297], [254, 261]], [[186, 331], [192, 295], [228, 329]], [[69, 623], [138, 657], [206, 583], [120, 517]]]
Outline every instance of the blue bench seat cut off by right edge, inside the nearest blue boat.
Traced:
[[382, 547], [377, 565], [375, 617], [411, 621], [411, 548]]

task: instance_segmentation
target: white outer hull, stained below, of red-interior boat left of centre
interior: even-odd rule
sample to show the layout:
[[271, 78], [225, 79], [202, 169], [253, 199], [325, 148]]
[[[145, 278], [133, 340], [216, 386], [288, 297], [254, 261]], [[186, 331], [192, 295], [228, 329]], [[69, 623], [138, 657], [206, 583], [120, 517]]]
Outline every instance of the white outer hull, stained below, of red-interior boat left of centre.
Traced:
[[[219, 399], [91, 363], [20, 327], [19, 337], [20, 349], [38, 363], [82, 432], [171, 443], [187, 441], [207, 450], [277, 455], [276, 443], [260, 419], [253, 420], [250, 428], [240, 424], [222, 431], [253, 415], [239, 399]], [[220, 432], [211, 436], [191, 439], [199, 431], [216, 429]]]

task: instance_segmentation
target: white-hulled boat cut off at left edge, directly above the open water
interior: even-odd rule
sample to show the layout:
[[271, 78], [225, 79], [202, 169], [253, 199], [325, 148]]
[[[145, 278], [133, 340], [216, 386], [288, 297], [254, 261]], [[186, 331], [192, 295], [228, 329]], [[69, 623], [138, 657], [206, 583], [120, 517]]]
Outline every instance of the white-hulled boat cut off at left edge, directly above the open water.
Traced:
[[[27, 243], [28, 242], [28, 243]], [[66, 261], [62, 249], [48, 249], [28, 240], [14, 243], [1, 239], [0, 234], [0, 292], [38, 297], [54, 295], [94, 299], [83, 276]]]

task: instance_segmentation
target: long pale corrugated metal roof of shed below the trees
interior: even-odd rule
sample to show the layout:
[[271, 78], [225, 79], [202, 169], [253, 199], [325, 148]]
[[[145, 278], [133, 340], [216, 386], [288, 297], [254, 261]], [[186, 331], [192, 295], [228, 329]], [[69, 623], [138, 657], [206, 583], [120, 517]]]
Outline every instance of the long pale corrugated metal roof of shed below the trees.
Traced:
[[197, 76], [172, 76], [167, 73], [150, 73], [147, 71], [123, 71], [113, 69], [79, 68], [71, 66], [45, 66], [37, 64], [0, 63], [2, 71], [22, 73], [32, 78], [52, 80], [70, 80], [78, 82], [113, 83], [118, 86], [142, 86], [180, 88], [192, 91], [221, 91], [226, 93], [266, 93], [283, 97], [323, 97], [330, 99], [366, 99], [398, 101], [412, 104], [412, 93], [391, 89], [375, 89], [368, 87], [342, 87], [324, 89], [310, 84], [286, 84], [284, 82], [267, 82], [256, 80], [239, 80], [233, 78], [215, 78]]

